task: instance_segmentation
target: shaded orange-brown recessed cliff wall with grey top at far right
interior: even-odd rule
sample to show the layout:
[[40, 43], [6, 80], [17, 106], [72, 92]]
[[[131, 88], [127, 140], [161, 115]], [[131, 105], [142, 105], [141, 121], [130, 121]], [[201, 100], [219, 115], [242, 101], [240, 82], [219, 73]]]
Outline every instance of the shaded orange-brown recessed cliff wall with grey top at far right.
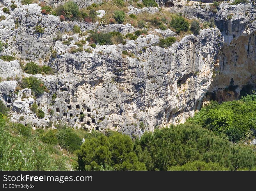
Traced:
[[[231, 19], [227, 19], [228, 15]], [[249, 3], [220, 5], [216, 24], [223, 33], [225, 44], [219, 53], [206, 99], [231, 101], [255, 89], [255, 16], [255, 6]]]

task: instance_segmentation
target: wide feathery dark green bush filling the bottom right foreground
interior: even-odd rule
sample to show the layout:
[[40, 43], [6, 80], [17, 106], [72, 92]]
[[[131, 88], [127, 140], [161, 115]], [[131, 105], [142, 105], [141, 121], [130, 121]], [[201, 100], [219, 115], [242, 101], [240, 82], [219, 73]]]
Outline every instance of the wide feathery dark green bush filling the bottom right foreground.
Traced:
[[136, 140], [136, 153], [148, 170], [166, 170], [195, 160], [218, 163], [235, 170], [252, 169], [256, 165], [255, 152], [243, 145], [235, 145], [199, 126], [181, 124], [155, 129]]

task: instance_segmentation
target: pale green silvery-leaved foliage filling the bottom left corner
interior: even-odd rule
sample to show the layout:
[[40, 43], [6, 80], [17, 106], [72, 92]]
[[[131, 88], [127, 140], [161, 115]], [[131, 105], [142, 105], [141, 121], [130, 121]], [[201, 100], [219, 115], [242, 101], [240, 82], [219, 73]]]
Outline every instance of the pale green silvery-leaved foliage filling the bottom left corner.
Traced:
[[[7, 119], [0, 117], [0, 170], [66, 170], [64, 160], [56, 160], [35, 137], [11, 135]], [[20, 126], [22, 133], [27, 129]]]

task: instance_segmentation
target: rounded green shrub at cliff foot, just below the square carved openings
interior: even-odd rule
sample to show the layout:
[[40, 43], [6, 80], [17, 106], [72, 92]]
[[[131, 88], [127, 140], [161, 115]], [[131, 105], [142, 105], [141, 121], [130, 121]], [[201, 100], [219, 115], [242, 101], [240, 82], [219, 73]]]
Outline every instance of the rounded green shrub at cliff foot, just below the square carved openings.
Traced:
[[60, 129], [56, 137], [60, 146], [69, 151], [80, 149], [82, 144], [82, 139], [71, 128]]

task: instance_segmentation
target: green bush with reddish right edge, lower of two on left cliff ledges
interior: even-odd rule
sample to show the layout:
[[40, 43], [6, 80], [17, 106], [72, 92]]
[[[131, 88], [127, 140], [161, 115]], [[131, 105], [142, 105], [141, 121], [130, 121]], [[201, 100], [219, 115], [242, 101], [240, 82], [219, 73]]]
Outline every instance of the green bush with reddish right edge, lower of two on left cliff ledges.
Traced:
[[22, 83], [20, 84], [22, 88], [30, 88], [32, 90], [32, 94], [35, 97], [39, 97], [42, 95], [46, 87], [42, 80], [38, 80], [37, 78], [30, 76], [22, 79]]

